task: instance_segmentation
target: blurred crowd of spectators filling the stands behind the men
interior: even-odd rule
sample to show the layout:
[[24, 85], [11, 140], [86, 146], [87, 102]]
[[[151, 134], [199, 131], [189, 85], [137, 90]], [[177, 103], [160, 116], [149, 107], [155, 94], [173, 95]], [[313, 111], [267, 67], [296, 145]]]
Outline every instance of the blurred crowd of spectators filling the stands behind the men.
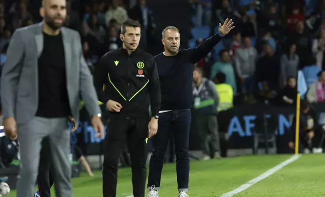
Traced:
[[[156, 24], [146, 1], [67, 0], [65, 26], [80, 33], [84, 57], [91, 70], [103, 54], [122, 46], [120, 26], [127, 19], [139, 21], [142, 26], [140, 48], [150, 47]], [[211, 35], [216, 33], [219, 23], [227, 18], [234, 20], [236, 28], [231, 35], [195, 65], [196, 71], [207, 79], [231, 86], [234, 105], [261, 102], [295, 106], [297, 86], [309, 103], [325, 101], [322, 71], [325, 1], [191, 0], [189, 3], [193, 8], [193, 29], [208, 27]], [[41, 21], [40, 4], [39, 0], [0, 0], [1, 65], [6, 61], [13, 32]], [[197, 46], [208, 38], [198, 32], [192, 35], [189, 46]]]

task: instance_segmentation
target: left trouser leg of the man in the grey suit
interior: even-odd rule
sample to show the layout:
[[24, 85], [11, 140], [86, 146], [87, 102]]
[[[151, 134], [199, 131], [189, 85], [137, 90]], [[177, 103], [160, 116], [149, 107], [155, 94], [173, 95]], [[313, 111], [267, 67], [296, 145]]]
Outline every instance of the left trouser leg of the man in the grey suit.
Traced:
[[49, 122], [47, 119], [34, 117], [30, 122], [18, 125], [20, 171], [17, 197], [34, 195], [41, 142], [50, 133]]

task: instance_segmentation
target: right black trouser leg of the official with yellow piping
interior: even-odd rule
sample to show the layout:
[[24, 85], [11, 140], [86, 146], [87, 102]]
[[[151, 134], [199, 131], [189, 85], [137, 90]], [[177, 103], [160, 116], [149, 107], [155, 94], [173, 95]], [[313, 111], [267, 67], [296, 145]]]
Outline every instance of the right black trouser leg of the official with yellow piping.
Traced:
[[147, 177], [147, 145], [145, 139], [148, 137], [148, 118], [131, 120], [132, 128], [129, 131], [127, 142], [130, 151], [133, 196], [144, 197], [145, 183]]

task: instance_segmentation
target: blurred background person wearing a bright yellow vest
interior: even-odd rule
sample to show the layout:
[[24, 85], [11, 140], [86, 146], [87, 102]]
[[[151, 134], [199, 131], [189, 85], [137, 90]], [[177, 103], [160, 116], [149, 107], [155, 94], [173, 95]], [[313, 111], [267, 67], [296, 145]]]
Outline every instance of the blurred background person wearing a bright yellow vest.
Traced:
[[225, 83], [226, 75], [223, 72], [218, 72], [214, 77], [216, 83], [215, 88], [219, 94], [218, 105], [218, 130], [220, 136], [220, 154], [222, 157], [227, 157], [228, 149], [228, 125], [232, 118], [234, 92], [231, 85]]

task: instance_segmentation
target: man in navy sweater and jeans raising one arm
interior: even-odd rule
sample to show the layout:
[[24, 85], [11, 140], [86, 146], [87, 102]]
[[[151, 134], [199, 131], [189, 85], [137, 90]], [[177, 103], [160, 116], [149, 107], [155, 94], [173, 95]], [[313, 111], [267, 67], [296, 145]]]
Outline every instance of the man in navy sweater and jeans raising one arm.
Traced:
[[171, 135], [174, 137], [178, 196], [185, 197], [188, 190], [190, 162], [188, 158], [191, 108], [193, 99], [193, 64], [205, 57], [234, 27], [232, 20], [219, 24], [219, 33], [201, 45], [179, 50], [181, 37], [176, 27], [167, 27], [162, 32], [161, 42], [165, 51], [154, 57], [157, 63], [161, 87], [161, 111], [158, 132], [153, 138], [150, 158], [148, 188], [150, 197], [157, 197], [160, 187], [164, 155]]

